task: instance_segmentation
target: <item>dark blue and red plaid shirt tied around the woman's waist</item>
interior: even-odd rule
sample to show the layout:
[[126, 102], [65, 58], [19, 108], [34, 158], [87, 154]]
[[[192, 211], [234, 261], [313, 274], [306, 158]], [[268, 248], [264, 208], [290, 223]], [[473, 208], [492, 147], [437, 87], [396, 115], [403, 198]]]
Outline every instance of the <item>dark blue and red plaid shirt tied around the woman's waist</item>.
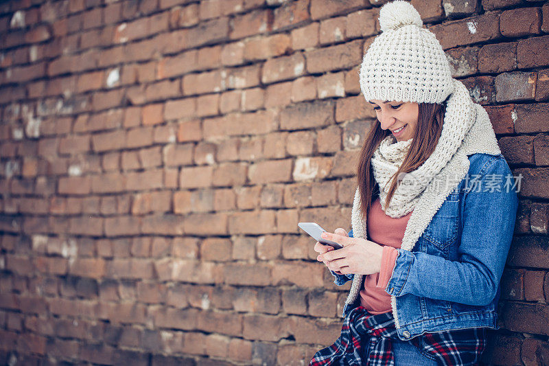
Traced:
[[[369, 343], [365, 342], [367, 337], [372, 345], [369, 354], [366, 354], [369, 350]], [[393, 313], [372, 315], [363, 306], [358, 306], [345, 318], [336, 342], [316, 352], [309, 366], [394, 366], [391, 339], [399, 340]], [[486, 328], [424, 333], [410, 342], [434, 356], [441, 365], [477, 365], [486, 347]]]

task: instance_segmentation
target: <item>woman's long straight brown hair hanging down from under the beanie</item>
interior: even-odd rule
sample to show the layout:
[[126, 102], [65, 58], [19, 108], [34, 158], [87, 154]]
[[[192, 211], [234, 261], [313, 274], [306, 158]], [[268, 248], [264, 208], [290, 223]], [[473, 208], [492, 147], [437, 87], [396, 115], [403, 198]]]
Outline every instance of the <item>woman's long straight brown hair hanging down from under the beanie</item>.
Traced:
[[[441, 104], [418, 104], [419, 114], [417, 128], [412, 137], [413, 139], [410, 148], [408, 149], [408, 154], [406, 154], [400, 168], [390, 180], [391, 183], [384, 209], [387, 209], [390, 200], [393, 198], [393, 194], [395, 194], [395, 190], [397, 189], [398, 182], [394, 177], [399, 176], [401, 173], [413, 172], [419, 168], [434, 151], [436, 144], [439, 142], [439, 137], [441, 137], [447, 100], [448, 99]], [[373, 170], [371, 169], [372, 155], [382, 139], [390, 135], [390, 133], [389, 129], [382, 130], [379, 121], [376, 120], [370, 128], [366, 139], [364, 139], [364, 144], [360, 149], [356, 177], [358, 190], [360, 192], [360, 210], [362, 211], [363, 219], [367, 217], [372, 202], [379, 196], [379, 185], [375, 181]]]

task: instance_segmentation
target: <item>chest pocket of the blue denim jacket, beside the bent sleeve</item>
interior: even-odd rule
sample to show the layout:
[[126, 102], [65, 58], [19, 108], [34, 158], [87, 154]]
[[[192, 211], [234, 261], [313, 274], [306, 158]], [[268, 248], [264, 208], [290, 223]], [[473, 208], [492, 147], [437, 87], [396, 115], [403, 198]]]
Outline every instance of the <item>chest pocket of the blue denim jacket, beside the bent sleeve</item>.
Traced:
[[[440, 250], [445, 250], [458, 238], [459, 194], [449, 194], [430, 224], [423, 231], [423, 237]], [[447, 253], [428, 253], [447, 255]]]

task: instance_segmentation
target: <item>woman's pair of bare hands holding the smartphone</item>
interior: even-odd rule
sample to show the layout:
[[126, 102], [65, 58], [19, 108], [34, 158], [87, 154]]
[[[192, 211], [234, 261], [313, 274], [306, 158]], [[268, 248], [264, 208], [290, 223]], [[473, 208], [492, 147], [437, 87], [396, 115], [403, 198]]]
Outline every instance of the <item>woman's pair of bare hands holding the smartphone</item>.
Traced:
[[[370, 240], [349, 238], [347, 235], [339, 235], [338, 233], [323, 233], [322, 238], [343, 246], [341, 249], [327, 250], [320, 253], [316, 258], [316, 260], [324, 262], [331, 271], [342, 275], [348, 273], [371, 275], [381, 271], [383, 253], [381, 245]], [[329, 246], [323, 245], [323, 247]]]

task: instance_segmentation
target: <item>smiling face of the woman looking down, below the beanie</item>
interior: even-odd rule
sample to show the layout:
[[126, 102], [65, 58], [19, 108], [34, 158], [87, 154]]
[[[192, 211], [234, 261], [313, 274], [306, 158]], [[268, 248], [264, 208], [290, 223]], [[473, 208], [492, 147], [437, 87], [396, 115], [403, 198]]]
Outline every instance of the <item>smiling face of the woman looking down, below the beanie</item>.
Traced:
[[[397, 141], [407, 141], [414, 137], [419, 117], [419, 104], [416, 102], [395, 102], [383, 100], [369, 101], [381, 123], [381, 128], [387, 128]], [[404, 129], [399, 130], [399, 128]]]

